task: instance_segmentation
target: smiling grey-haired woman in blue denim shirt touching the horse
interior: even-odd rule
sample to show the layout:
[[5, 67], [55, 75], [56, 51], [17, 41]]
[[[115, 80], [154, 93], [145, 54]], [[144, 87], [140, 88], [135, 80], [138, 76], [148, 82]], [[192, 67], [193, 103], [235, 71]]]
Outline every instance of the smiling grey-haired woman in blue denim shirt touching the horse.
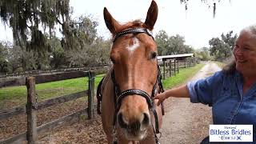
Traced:
[[[234, 43], [234, 61], [213, 76], [188, 82], [158, 94], [158, 104], [169, 97], [190, 98], [212, 106], [216, 125], [254, 125], [256, 142], [256, 25], [243, 29]], [[202, 143], [208, 143], [205, 139]]]

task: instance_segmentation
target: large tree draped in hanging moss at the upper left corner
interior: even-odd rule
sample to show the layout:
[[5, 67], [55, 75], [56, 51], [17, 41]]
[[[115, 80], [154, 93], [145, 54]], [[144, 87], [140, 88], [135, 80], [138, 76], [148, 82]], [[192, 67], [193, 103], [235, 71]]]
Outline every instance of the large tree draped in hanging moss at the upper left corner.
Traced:
[[42, 69], [42, 60], [46, 60], [50, 52], [44, 33], [47, 30], [51, 36], [57, 23], [62, 30], [66, 30], [70, 22], [69, 14], [69, 0], [0, 1], [0, 18], [13, 30], [14, 46], [34, 54], [34, 58], [37, 58], [36, 69]]

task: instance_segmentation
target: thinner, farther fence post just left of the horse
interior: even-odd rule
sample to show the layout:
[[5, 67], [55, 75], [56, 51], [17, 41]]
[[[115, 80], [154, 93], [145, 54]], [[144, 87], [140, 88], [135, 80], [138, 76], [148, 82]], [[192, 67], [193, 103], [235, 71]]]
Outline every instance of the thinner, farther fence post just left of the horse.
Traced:
[[94, 78], [95, 73], [89, 71], [88, 79], [88, 118], [94, 118]]

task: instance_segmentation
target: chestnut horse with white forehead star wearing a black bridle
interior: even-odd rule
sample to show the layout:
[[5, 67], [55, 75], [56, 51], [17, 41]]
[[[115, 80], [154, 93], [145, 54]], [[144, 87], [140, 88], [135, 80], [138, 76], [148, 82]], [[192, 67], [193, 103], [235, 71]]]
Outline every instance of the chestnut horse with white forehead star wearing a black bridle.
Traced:
[[151, 34], [157, 18], [154, 1], [145, 22], [121, 25], [104, 8], [106, 26], [113, 34], [113, 66], [100, 82], [97, 98], [108, 143], [159, 143], [163, 110], [153, 97], [162, 91], [162, 83], [158, 50]]

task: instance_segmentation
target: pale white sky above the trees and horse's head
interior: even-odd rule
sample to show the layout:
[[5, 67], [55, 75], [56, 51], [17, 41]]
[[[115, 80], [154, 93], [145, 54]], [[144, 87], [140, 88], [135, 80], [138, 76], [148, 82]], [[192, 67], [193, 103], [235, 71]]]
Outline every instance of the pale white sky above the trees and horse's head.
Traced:
[[[153, 33], [165, 30], [169, 36], [182, 35], [186, 45], [195, 49], [208, 47], [210, 38], [220, 37], [233, 30], [235, 34], [246, 26], [256, 24], [256, 0], [208, 0], [217, 3], [216, 15], [213, 18], [213, 9], [201, 0], [190, 0], [188, 10], [180, 0], [155, 0], [158, 4], [158, 20], [154, 25]], [[73, 6], [73, 18], [81, 14], [91, 15], [98, 21], [98, 35], [110, 38], [103, 18], [104, 7], [118, 22], [129, 22], [146, 19], [146, 13], [151, 0], [70, 0]], [[0, 25], [0, 41], [12, 41], [12, 32], [8, 27]]]

